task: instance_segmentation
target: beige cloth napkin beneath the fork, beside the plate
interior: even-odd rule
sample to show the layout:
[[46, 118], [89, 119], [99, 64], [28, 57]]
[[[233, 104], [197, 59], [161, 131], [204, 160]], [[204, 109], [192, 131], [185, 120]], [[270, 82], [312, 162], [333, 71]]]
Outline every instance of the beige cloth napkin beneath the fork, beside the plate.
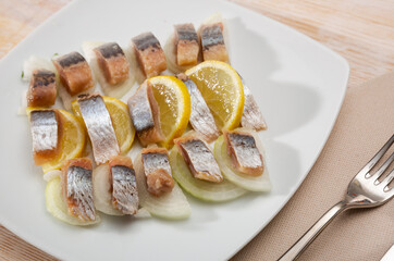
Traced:
[[[342, 200], [353, 176], [393, 134], [394, 73], [349, 89], [330, 138], [307, 178], [282, 211], [233, 260], [280, 258], [329, 208]], [[389, 152], [393, 151], [394, 148]], [[343, 212], [298, 260], [374, 261], [393, 244], [391, 200], [379, 208]]]

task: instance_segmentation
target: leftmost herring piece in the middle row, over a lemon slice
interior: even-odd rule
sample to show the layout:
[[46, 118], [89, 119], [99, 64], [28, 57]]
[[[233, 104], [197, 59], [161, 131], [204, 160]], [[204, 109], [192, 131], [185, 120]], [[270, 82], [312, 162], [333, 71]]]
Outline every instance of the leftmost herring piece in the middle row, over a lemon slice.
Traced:
[[52, 160], [60, 149], [60, 116], [56, 110], [30, 112], [33, 158], [36, 165]]

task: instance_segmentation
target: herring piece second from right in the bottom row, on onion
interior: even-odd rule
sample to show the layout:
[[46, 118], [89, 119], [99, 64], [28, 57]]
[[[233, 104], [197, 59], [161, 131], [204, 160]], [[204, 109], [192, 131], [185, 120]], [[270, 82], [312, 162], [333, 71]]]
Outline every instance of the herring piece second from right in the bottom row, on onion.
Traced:
[[220, 183], [222, 173], [211, 150], [197, 135], [187, 135], [174, 140], [194, 177]]

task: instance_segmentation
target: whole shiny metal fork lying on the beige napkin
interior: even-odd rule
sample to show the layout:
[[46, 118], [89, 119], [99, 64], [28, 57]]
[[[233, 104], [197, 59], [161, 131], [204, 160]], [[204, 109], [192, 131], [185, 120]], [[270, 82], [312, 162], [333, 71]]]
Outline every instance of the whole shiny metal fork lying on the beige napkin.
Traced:
[[295, 260], [315, 240], [315, 238], [327, 227], [328, 224], [342, 211], [356, 208], [373, 208], [382, 206], [394, 196], [394, 188], [389, 188], [389, 184], [394, 178], [394, 170], [381, 182], [379, 177], [387, 170], [394, 161], [394, 153], [371, 175], [372, 167], [382, 159], [384, 153], [394, 142], [394, 135], [378, 151], [378, 153], [362, 167], [352, 179], [347, 187], [345, 199], [332, 207], [312, 227], [307, 231], [301, 238], [285, 252], [279, 261]]

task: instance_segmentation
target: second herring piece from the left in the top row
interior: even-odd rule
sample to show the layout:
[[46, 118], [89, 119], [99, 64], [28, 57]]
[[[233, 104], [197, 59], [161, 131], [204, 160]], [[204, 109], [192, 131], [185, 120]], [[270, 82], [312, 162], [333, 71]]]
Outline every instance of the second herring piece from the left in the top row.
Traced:
[[71, 52], [52, 60], [60, 80], [71, 96], [81, 94], [94, 86], [91, 71], [79, 52]]

